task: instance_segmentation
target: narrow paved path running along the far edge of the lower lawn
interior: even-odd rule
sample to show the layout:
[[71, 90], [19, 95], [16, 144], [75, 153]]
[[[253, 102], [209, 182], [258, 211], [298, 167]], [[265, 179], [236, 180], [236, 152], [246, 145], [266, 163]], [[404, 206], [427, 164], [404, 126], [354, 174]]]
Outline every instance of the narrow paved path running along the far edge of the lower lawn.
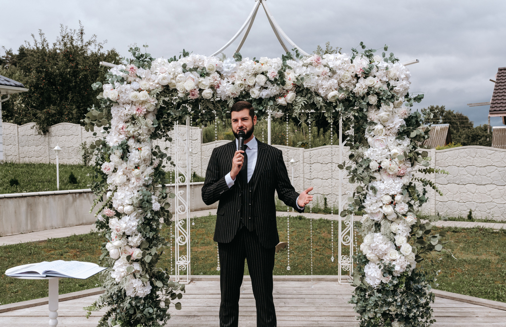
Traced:
[[[194, 211], [190, 213], [191, 217], [202, 217], [207, 215], [216, 215], [217, 209], [208, 209], [208, 210], [200, 210]], [[332, 219], [339, 220], [338, 215], [325, 215], [325, 214], [310, 214], [310, 213], [302, 213], [298, 212], [289, 212], [286, 211], [278, 211], [276, 212], [277, 216], [287, 216], [288, 214], [294, 216], [304, 216], [306, 218], [312, 217], [313, 219]], [[360, 220], [360, 216], [355, 216], [354, 220]], [[506, 229], [506, 223], [482, 223], [482, 222], [468, 222], [468, 221], [439, 221], [436, 223], [436, 227], [462, 227], [462, 228], [471, 228], [471, 227], [484, 227], [484, 228], [493, 228], [493, 229]], [[48, 238], [57, 238], [57, 237], [67, 237], [71, 235], [79, 235], [79, 234], [87, 234], [90, 231], [95, 230], [95, 225], [80, 225], [80, 226], [72, 226], [72, 227], [62, 227], [48, 230], [41, 230], [38, 232], [31, 232], [25, 234], [17, 234], [17, 235], [9, 235], [0, 237], [0, 246], [9, 245], [9, 244], [17, 244], [17, 243], [25, 243], [25, 242], [38, 242], [45, 241]]]

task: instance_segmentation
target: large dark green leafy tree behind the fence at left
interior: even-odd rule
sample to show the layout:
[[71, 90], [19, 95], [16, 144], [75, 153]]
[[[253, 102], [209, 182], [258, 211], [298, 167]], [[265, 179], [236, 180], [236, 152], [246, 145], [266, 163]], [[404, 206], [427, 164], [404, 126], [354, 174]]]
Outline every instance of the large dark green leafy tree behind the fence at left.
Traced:
[[39, 30], [38, 39], [32, 34], [33, 45], [25, 42], [18, 53], [6, 50], [2, 57], [0, 75], [15, 79], [30, 91], [12, 96], [3, 104], [5, 121], [25, 124], [34, 121], [40, 133], [59, 122], [80, 124], [87, 108], [98, 105], [91, 85], [101, 80], [104, 71], [100, 61], [113, 62], [118, 57], [114, 49], [104, 52], [104, 43], [85, 31], [60, 25], [60, 35], [50, 45]]

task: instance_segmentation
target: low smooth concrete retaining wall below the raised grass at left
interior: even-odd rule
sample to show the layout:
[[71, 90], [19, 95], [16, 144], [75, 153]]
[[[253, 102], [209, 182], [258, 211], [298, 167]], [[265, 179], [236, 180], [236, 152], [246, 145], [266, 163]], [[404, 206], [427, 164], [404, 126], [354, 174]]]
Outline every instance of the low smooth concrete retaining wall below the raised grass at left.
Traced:
[[[190, 184], [191, 211], [217, 208], [202, 201], [203, 184]], [[181, 190], [186, 194], [186, 186]], [[94, 198], [90, 189], [0, 194], [0, 236], [93, 224], [96, 218], [89, 211]], [[170, 202], [174, 212], [174, 199]]]

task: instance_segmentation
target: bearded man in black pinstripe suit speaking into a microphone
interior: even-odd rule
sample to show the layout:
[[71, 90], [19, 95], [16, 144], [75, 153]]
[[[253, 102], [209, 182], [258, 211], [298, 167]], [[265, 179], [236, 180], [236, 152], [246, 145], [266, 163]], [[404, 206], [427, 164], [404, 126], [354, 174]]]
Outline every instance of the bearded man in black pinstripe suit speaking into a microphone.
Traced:
[[257, 116], [251, 104], [239, 101], [231, 108], [232, 132], [243, 131], [243, 149], [232, 141], [213, 150], [202, 187], [206, 205], [220, 201], [214, 240], [220, 254], [220, 326], [236, 327], [239, 295], [248, 262], [257, 306], [257, 326], [276, 326], [272, 297], [275, 247], [279, 243], [274, 191], [298, 212], [312, 200], [308, 188], [297, 193], [290, 183], [281, 150], [253, 135]]

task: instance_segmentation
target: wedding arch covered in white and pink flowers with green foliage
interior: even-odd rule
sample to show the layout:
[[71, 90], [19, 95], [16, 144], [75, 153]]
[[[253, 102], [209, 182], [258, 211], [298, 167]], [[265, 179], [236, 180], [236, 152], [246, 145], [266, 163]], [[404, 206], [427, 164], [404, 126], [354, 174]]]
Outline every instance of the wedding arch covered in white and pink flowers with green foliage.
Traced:
[[[362, 43], [361, 47], [366, 49]], [[358, 256], [352, 302], [362, 325], [428, 321], [432, 312], [427, 307], [409, 312], [389, 309], [383, 314], [384, 303], [371, 302], [385, 289], [398, 294], [396, 290], [406, 288], [406, 283], [425, 278], [413, 271], [419, 254], [441, 250], [439, 241], [432, 248], [420, 245], [420, 239], [428, 237], [423, 228], [428, 227], [415, 216], [416, 208], [427, 201], [425, 187], [435, 188], [430, 181], [413, 177], [416, 166], [427, 167], [429, 160], [427, 153], [416, 150], [428, 137], [428, 128], [419, 112], [410, 111], [423, 95], [408, 93], [409, 71], [392, 53], [352, 49], [351, 56], [302, 56], [293, 49], [281, 58], [249, 59], [236, 53], [219, 59], [183, 50], [179, 58], [154, 59], [139, 47], [129, 51], [133, 58], [120, 58], [121, 64], [105, 74], [104, 84], [93, 85], [102, 91], [101, 105], [89, 108], [84, 119], [87, 131], [99, 127], [94, 135], [104, 136], [95, 142], [99, 181], [93, 190], [95, 205], [102, 202], [97, 228], [107, 238], [101, 258], [109, 269], [104, 273], [106, 292], [91, 307], [109, 307], [101, 326], [159, 326], [170, 318], [169, 305], [182, 297], [177, 292], [184, 291], [184, 285], [170, 281], [167, 269], [156, 263], [166, 244], [160, 220], [170, 224], [172, 218], [167, 198], [174, 194], [165, 187], [164, 169], [173, 162], [152, 141], [171, 141], [169, 132], [188, 116], [198, 124], [223, 120], [238, 100], [251, 102], [259, 118], [271, 111], [274, 116], [284, 112], [307, 120], [306, 113], [315, 110], [329, 121], [348, 120], [354, 129], [347, 141], [352, 153], [339, 167], [346, 168], [350, 182], [358, 185], [349, 209], [341, 215], [365, 210], [363, 233], [367, 240], [372, 237], [370, 243], [364, 241], [368, 248]], [[432, 236], [432, 244], [440, 236]], [[416, 243], [409, 246], [411, 240]], [[372, 245], [379, 242], [382, 247], [386, 244], [388, 255]], [[423, 287], [416, 296], [428, 303], [433, 296], [424, 280], [417, 283]]]

